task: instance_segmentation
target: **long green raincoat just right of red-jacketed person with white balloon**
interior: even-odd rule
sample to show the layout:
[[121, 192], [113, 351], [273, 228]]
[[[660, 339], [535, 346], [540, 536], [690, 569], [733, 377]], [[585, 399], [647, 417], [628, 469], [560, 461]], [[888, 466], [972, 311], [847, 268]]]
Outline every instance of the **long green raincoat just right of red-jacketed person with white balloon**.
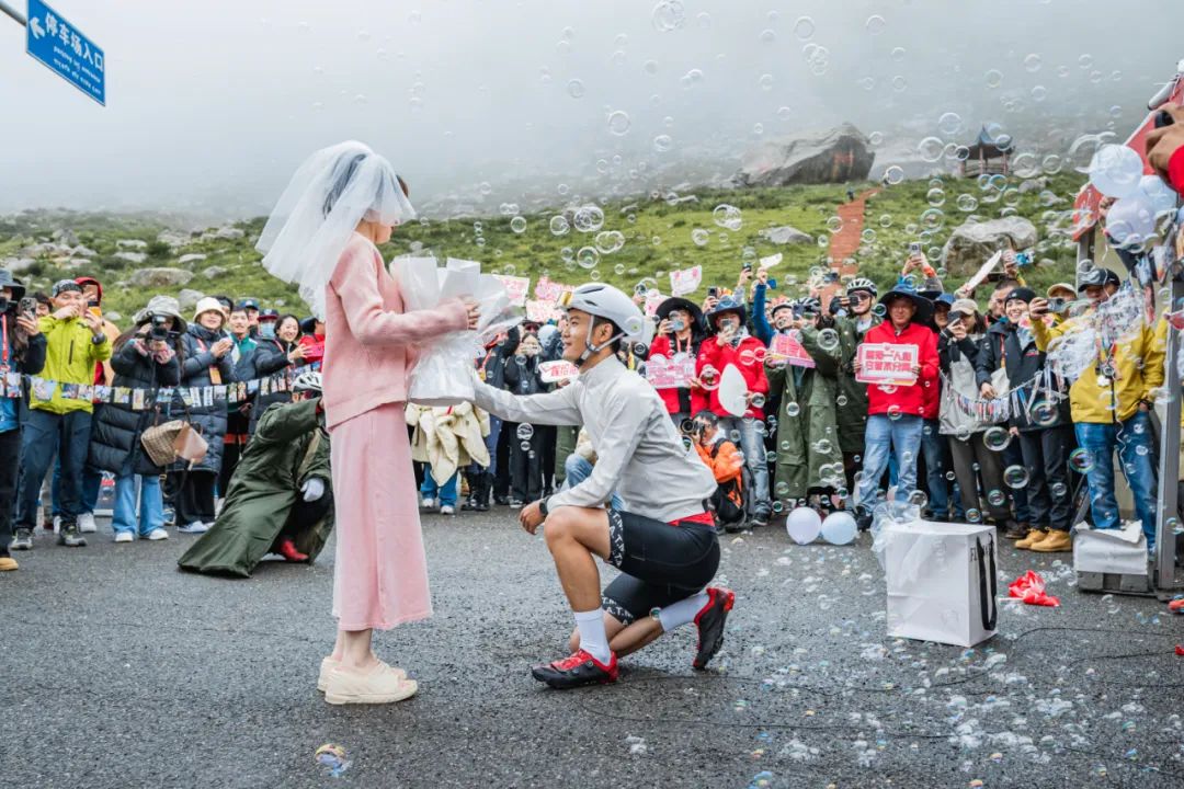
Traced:
[[[809, 489], [823, 487], [823, 466], [838, 464], [836, 471], [842, 477], [843, 454], [835, 421], [837, 368], [826, 354], [810, 350], [804, 336], [803, 345], [815, 360], [815, 369], [765, 362], [768, 392], [781, 400], [773, 477], [773, 493], [780, 499], [802, 499]], [[790, 403], [797, 403], [797, 415], [786, 412]]]

